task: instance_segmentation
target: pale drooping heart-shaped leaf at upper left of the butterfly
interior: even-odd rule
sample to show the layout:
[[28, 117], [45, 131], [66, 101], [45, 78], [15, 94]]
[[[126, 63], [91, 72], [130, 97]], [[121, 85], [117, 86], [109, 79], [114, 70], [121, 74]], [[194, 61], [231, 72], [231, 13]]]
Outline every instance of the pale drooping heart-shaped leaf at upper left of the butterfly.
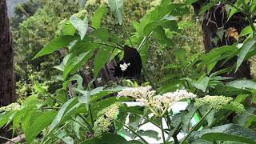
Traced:
[[85, 37], [87, 28], [88, 28], [88, 19], [87, 16], [82, 20], [78, 18], [76, 15], [72, 15], [70, 17], [70, 22], [74, 26], [76, 30], [78, 30], [78, 34], [80, 35], [81, 40]]

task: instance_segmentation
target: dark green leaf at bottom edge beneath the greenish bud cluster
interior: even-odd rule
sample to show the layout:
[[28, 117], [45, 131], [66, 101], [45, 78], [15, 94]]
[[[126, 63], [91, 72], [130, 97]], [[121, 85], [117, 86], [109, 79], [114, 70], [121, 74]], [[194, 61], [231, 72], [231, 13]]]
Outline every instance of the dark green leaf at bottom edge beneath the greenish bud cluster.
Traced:
[[127, 142], [125, 138], [122, 138], [118, 134], [102, 134], [101, 138], [90, 138], [85, 142], [82, 142], [82, 144], [113, 144], [113, 142], [118, 144], [129, 144], [129, 142]]

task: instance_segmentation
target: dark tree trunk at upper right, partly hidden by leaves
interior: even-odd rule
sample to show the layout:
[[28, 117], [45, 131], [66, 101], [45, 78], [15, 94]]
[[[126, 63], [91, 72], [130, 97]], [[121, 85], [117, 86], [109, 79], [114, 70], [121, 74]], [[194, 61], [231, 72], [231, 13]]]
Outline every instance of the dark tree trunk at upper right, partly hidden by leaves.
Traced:
[[[202, 6], [205, 6], [207, 2], [209, 1], [199, 0], [193, 3], [195, 14], [198, 14]], [[227, 17], [228, 14], [226, 13], [224, 3], [212, 6], [204, 14], [202, 19], [202, 33], [206, 53], [214, 48], [232, 45], [234, 42], [237, 42], [238, 34], [240, 34], [245, 26], [248, 26], [248, 22], [245, 20], [246, 17], [240, 13], [234, 14], [230, 20], [228, 20]], [[237, 37], [230, 36], [230, 32], [237, 33]], [[226, 62], [223, 66], [221, 66], [222, 62], [223, 61], [220, 61], [216, 64], [213, 72], [234, 66], [234, 63], [237, 62], [237, 58], [230, 59], [230, 61]], [[250, 62], [243, 62], [236, 73], [234, 73], [233, 70], [228, 74], [222, 74], [222, 76], [236, 79], [250, 79]]]

